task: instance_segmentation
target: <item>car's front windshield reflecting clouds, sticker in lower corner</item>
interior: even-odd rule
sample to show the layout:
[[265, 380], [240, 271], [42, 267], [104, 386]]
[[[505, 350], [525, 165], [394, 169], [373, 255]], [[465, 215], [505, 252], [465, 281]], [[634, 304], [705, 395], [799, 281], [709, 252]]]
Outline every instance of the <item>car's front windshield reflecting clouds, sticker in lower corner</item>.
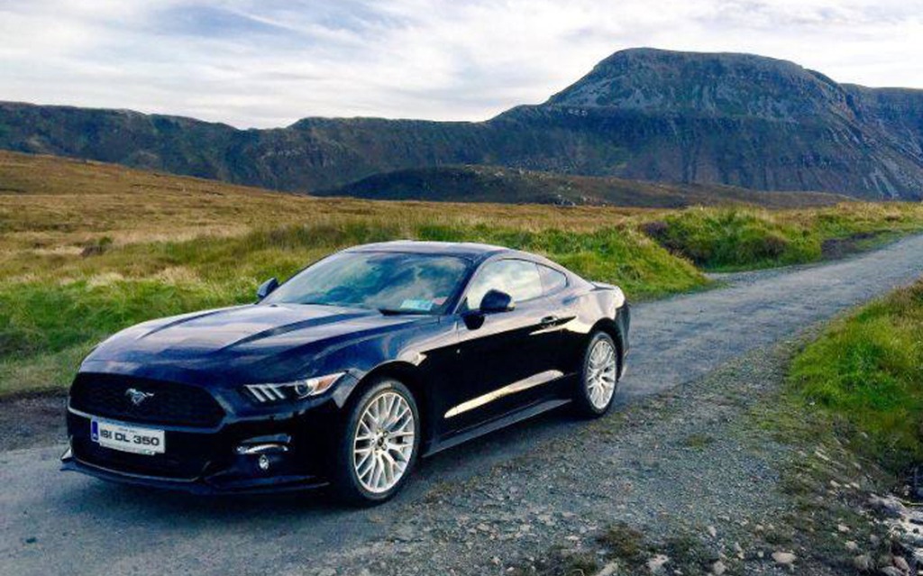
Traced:
[[443, 314], [458, 294], [468, 266], [452, 256], [341, 252], [302, 270], [263, 302]]

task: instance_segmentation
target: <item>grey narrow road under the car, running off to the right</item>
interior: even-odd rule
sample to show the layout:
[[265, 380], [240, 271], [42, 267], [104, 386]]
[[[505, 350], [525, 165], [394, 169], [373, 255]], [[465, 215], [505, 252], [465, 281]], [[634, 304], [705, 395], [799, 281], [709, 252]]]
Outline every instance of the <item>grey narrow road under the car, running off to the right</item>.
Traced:
[[[722, 402], [697, 404], [707, 398], [698, 393], [684, 392], [683, 402], [672, 403], [653, 395], [699, 390], [728, 362], [761, 354], [921, 273], [923, 235], [820, 266], [730, 275], [723, 288], [636, 306], [619, 410], [593, 424], [565, 412], [548, 414], [440, 454], [422, 463], [401, 497], [373, 510], [341, 510], [322, 493], [194, 498], [112, 486], [57, 472], [60, 444], [3, 451], [0, 573], [501, 573], [509, 562], [528, 562], [550, 546], [579, 545], [618, 514], [653, 522], [669, 510], [656, 498], [607, 495], [630, 490], [626, 483], [666, 486], [671, 478], [698, 474], [689, 470], [701, 466], [697, 451], [651, 460], [657, 414], [673, 423], [664, 441], [678, 441], [698, 434], [695, 426], [713, 414], [707, 408]], [[677, 389], [681, 384], [688, 386]], [[625, 438], [613, 430], [639, 407], [646, 415], [625, 437], [637, 438], [638, 446], [624, 451], [630, 443], [617, 443]], [[622, 451], [614, 452], [617, 446]], [[739, 451], [729, 447], [711, 462], [748, 478], [772, 475], [765, 463], [772, 454], [745, 458]], [[724, 489], [730, 504], [736, 495], [753, 495], [747, 483]], [[709, 490], [690, 494], [725, 498]], [[697, 518], [695, 507], [682, 505]], [[764, 498], [762, 508], [772, 507], [772, 498]]]

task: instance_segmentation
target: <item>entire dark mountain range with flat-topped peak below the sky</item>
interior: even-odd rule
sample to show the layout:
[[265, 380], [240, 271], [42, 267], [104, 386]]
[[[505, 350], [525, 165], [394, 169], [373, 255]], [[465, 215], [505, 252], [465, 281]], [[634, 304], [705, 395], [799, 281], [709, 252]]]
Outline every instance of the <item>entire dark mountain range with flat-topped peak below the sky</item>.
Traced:
[[479, 123], [306, 118], [239, 130], [0, 103], [0, 148], [314, 192], [459, 164], [918, 200], [923, 90], [838, 84], [750, 54], [617, 52], [537, 105]]

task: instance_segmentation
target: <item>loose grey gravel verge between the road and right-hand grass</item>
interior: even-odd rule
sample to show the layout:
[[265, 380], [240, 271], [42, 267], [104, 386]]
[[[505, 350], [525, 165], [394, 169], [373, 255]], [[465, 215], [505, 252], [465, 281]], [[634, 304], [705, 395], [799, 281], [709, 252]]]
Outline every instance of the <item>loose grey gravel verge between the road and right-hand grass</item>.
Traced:
[[691, 564], [671, 558], [665, 573], [671, 562], [685, 561], [676, 568], [690, 574], [719, 560], [729, 574], [789, 573], [772, 558], [784, 550], [761, 533], [793, 510], [779, 481], [797, 449], [773, 440], [751, 409], [772, 402], [792, 348], [747, 354], [476, 480], [436, 486], [391, 511], [386, 537], [284, 573], [553, 573], [567, 558], [601, 569], [611, 550], [600, 537], [617, 522], [653, 546], [682, 541], [698, 552]]

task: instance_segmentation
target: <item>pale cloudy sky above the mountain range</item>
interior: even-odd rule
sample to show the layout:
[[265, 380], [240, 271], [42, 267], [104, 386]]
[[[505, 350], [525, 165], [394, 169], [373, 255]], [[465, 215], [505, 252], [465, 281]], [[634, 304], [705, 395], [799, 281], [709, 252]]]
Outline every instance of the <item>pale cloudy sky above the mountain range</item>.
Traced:
[[238, 127], [484, 120], [649, 46], [923, 89], [923, 0], [0, 0], [0, 100]]

